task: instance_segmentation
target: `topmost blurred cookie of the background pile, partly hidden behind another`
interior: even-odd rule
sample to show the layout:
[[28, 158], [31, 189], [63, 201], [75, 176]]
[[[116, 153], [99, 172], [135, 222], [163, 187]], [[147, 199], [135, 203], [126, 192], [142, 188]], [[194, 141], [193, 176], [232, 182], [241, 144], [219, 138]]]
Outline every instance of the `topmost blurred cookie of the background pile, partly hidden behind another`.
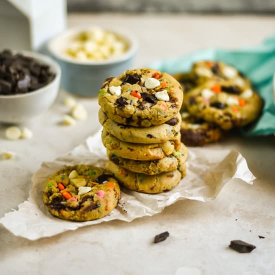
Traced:
[[233, 66], [220, 61], [197, 61], [192, 65], [191, 75], [196, 76], [196, 83], [203, 83], [205, 80], [229, 80], [232, 85], [239, 88], [248, 88], [250, 81], [243, 73]]

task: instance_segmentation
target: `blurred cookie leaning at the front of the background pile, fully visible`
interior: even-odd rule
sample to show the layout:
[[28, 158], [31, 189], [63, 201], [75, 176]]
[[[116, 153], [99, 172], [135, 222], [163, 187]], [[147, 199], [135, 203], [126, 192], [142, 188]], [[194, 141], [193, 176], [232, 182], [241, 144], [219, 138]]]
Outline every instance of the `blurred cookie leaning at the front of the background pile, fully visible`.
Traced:
[[209, 80], [189, 91], [183, 105], [190, 114], [228, 130], [255, 120], [262, 100], [251, 88], [242, 89], [230, 81]]

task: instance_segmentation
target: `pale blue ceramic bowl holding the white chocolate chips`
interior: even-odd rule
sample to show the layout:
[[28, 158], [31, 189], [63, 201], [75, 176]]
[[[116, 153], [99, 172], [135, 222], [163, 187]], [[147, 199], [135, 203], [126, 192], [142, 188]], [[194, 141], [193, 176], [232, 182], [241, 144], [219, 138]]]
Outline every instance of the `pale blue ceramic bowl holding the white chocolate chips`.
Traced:
[[108, 29], [107, 31], [123, 37], [128, 44], [127, 51], [120, 56], [102, 61], [82, 61], [65, 55], [63, 52], [68, 41], [77, 33], [86, 30], [88, 28], [68, 29], [48, 42], [48, 51], [61, 67], [61, 87], [63, 89], [80, 96], [96, 96], [107, 77], [116, 76], [124, 70], [132, 68], [137, 51], [137, 41], [130, 34]]

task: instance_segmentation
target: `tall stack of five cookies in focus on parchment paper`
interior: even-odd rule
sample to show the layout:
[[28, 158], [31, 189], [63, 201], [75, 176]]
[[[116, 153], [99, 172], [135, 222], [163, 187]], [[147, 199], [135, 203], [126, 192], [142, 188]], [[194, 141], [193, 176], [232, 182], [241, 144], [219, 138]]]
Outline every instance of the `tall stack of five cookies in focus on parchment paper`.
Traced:
[[98, 94], [105, 168], [125, 187], [159, 193], [185, 175], [187, 150], [180, 142], [180, 84], [153, 69], [107, 78]]

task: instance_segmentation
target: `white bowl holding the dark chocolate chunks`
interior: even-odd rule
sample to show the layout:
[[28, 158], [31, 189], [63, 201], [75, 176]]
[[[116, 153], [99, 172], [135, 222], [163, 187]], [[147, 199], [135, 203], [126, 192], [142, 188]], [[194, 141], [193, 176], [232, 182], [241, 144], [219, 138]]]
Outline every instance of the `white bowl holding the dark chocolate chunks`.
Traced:
[[51, 106], [59, 90], [61, 69], [54, 60], [36, 52], [24, 50], [16, 52], [48, 65], [55, 73], [55, 77], [47, 85], [31, 92], [0, 95], [0, 122], [20, 123], [37, 116]]

